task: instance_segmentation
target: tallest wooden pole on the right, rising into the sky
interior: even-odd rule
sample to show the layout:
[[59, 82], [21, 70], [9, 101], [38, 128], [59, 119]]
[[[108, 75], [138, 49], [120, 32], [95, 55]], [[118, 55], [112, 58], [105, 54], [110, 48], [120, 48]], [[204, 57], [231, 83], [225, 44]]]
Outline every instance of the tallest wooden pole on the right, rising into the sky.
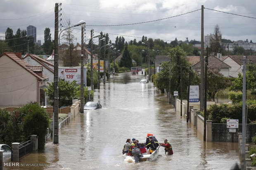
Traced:
[[204, 108], [204, 5], [201, 6], [201, 85], [200, 85], [200, 110]]

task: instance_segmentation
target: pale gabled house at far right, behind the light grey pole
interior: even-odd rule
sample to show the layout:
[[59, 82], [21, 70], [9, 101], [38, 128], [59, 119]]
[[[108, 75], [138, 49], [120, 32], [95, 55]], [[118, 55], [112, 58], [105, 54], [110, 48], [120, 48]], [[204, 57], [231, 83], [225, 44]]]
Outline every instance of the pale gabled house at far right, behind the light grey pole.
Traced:
[[[230, 65], [230, 73], [229, 76], [231, 77], [238, 77], [238, 73], [243, 74], [241, 66], [243, 65], [243, 56], [241, 55], [233, 55], [233, 56], [223, 56], [223, 62]], [[248, 60], [251, 61], [254, 65], [256, 64], [256, 56], [247, 56], [247, 62]]]

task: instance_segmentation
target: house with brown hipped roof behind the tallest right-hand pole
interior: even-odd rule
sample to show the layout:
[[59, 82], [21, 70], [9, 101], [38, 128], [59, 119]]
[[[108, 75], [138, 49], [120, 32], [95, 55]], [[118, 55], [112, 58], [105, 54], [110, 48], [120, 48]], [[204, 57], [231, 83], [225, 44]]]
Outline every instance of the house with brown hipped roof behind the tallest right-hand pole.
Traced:
[[[220, 59], [214, 57], [213, 55], [209, 55], [209, 57], [208, 57], [208, 67], [209, 67], [210, 70], [219, 71], [221, 74], [223, 74], [223, 76], [228, 77], [230, 75], [229, 70], [230, 70], [231, 67], [228, 64], [226, 64], [225, 62], [221, 61]], [[195, 71], [200, 73], [200, 71], [201, 71], [201, 61], [194, 64], [192, 66], [192, 68]]]

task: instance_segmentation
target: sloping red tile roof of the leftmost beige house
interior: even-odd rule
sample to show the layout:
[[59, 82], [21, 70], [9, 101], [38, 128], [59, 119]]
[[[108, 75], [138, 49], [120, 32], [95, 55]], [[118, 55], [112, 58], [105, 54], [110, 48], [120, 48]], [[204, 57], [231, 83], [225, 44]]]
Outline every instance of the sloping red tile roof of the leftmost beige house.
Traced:
[[26, 71], [28, 71], [29, 73], [31, 73], [33, 76], [35, 76], [37, 79], [39, 80], [45, 80], [45, 78], [38, 76], [32, 69], [30, 69], [29, 64], [26, 63], [24, 60], [21, 60], [19, 57], [17, 57], [15, 55], [15, 53], [10, 53], [10, 52], [5, 52], [3, 53], [0, 57], [2, 57], [3, 55], [6, 55], [7, 57], [9, 57], [10, 59], [12, 59], [14, 62], [16, 62], [17, 64], [19, 64], [21, 67], [23, 67]]

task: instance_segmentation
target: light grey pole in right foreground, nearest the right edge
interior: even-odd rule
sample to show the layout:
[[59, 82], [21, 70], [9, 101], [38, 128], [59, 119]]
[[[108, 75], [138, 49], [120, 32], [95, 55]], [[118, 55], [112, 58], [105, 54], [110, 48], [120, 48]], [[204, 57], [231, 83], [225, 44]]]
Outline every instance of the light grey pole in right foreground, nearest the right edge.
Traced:
[[245, 101], [246, 101], [246, 56], [244, 56], [244, 65], [243, 65], [243, 108], [242, 108], [242, 170], [246, 170], [246, 161], [245, 161], [245, 139], [246, 139], [246, 126], [245, 126]]

